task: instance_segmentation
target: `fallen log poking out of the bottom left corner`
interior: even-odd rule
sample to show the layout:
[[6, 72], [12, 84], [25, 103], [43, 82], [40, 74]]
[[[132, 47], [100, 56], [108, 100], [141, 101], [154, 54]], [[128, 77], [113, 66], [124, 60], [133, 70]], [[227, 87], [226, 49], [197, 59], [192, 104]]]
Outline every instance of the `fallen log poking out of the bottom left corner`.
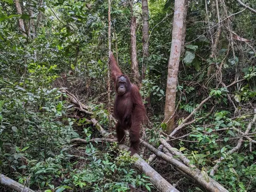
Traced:
[[6, 187], [13, 189], [17, 192], [35, 192], [30, 188], [18, 183], [17, 181], [12, 180], [11, 178], [0, 173], [0, 184], [5, 185]]

